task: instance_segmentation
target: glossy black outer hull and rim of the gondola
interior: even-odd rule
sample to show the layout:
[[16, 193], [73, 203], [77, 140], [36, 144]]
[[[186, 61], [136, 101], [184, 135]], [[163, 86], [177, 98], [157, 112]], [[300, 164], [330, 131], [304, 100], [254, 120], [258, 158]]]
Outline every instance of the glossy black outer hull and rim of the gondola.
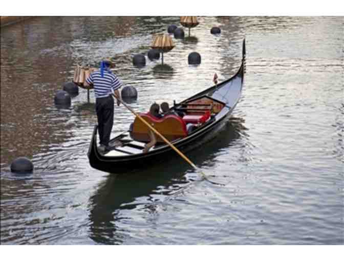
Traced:
[[[213, 90], [218, 91], [219, 89], [221, 89], [221, 87], [223, 85], [232, 81], [236, 77], [241, 78], [241, 85], [240, 85], [240, 93], [241, 93], [242, 88], [243, 88], [243, 82], [244, 82], [244, 74], [245, 74], [245, 56], [246, 56], [246, 50], [245, 50], [245, 39], [244, 39], [243, 40], [243, 58], [242, 58], [242, 62], [241, 62], [241, 66], [240, 66], [239, 70], [229, 79], [226, 79], [217, 85], [213, 85], [210, 88], [203, 90], [200, 93], [195, 94], [195, 95], [181, 101], [179, 104], [185, 103], [187, 101], [196, 99], [196, 98], [201, 97], [201, 96], [205, 96], [206, 94], [210, 93]], [[240, 95], [239, 95], [238, 99], [236, 100], [236, 102], [232, 105], [232, 107], [230, 107], [230, 106], [228, 106], [228, 104], [226, 104], [222, 108], [222, 110], [217, 115], [220, 115], [221, 112], [223, 112], [224, 110], [227, 110], [227, 112], [225, 112], [220, 118], [216, 117], [215, 120], [213, 120], [212, 122], [210, 122], [208, 124], [201, 126], [199, 129], [197, 129], [191, 135], [189, 135], [185, 138], [175, 140], [171, 143], [173, 143], [177, 148], [182, 148], [182, 147], [188, 146], [195, 139], [201, 139], [201, 138], [205, 137], [212, 129], [216, 129], [217, 125], [219, 125], [225, 118], [227, 118], [229, 115], [231, 115], [236, 104], [238, 104], [238, 102], [239, 102], [239, 98], [240, 98]], [[174, 108], [174, 107], [175, 106], [173, 106], [171, 108]], [[88, 157], [89, 157], [91, 166], [96, 168], [96, 169], [99, 169], [99, 170], [104, 170], [104, 168], [99, 166], [99, 164], [101, 164], [102, 162], [103, 163], [113, 163], [113, 164], [116, 164], [116, 163], [118, 163], [118, 164], [131, 164], [132, 162], [135, 162], [135, 161], [137, 162], [141, 159], [146, 159], [146, 158], [153, 158], [157, 155], [169, 153], [170, 151], [173, 150], [168, 144], [165, 144], [165, 145], [159, 146], [158, 148], [156, 148], [154, 150], [150, 150], [147, 153], [139, 153], [139, 154], [123, 155], [123, 156], [104, 156], [104, 155], [101, 155], [97, 149], [97, 129], [98, 129], [98, 126], [95, 125], [94, 130], [93, 130], [93, 134], [92, 134], [91, 144], [90, 144], [89, 150], [88, 150]], [[118, 137], [120, 137], [121, 135], [126, 134], [126, 133], [128, 133], [128, 132], [127, 131], [123, 132], [123, 133], [117, 135], [116, 137], [114, 137], [112, 140], [115, 140]], [[92, 154], [94, 155], [95, 159], [91, 160]], [[97, 161], [97, 163], [94, 163], [95, 160]], [[97, 165], [97, 166], [95, 166], [95, 165]], [[114, 168], [116, 168], [115, 165], [114, 165]], [[106, 169], [108, 169], [108, 168], [106, 168]], [[108, 171], [108, 170], [104, 170], [104, 171]]]

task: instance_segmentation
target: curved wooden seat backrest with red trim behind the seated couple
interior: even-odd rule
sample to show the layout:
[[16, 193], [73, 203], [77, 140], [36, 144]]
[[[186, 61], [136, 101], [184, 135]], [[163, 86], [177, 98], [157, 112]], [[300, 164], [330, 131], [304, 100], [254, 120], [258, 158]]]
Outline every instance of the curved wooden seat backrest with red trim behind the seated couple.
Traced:
[[[183, 119], [176, 115], [166, 115], [158, 119], [150, 114], [140, 114], [140, 116], [151, 124], [167, 140], [173, 141], [187, 136], [186, 124]], [[149, 142], [149, 128], [138, 117], [135, 118], [131, 137], [137, 141]], [[156, 135], [158, 142], [163, 140]]]

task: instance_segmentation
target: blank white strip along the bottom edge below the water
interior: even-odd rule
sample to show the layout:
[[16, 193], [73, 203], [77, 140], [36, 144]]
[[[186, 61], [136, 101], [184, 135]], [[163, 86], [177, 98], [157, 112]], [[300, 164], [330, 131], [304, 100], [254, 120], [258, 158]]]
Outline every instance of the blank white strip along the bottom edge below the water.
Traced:
[[1, 246], [4, 260], [341, 260], [342, 246]]

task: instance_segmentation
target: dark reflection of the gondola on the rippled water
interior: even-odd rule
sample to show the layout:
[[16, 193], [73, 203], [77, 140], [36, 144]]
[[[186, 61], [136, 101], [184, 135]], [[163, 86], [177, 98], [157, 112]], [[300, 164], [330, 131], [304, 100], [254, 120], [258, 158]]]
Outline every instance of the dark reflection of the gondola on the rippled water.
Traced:
[[[207, 143], [206, 152], [190, 151], [188, 157], [201, 168], [204, 162], [216, 164], [217, 153], [235, 144], [245, 129], [242, 119], [233, 119], [225, 123], [222, 132]], [[191, 175], [187, 174], [189, 172]], [[176, 155], [145, 170], [107, 176], [89, 200], [90, 237], [97, 243], [125, 243], [128, 231], [121, 229], [121, 222], [131, 217], [122, 213], [123, 210], [144, 208], [154, 213], [157, 211], [157, 203], [164, 204], [173, 200], [194, 183], [194, 179], [200, 181], [198, 175], [188, 163]]]

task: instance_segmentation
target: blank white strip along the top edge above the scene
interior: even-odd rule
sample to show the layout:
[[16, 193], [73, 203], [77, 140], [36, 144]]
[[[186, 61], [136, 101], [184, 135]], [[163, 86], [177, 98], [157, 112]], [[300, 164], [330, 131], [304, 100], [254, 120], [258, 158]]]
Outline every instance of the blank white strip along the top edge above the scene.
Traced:
[[1, 15], [344, 15], [341, 1], [7, 1]]

